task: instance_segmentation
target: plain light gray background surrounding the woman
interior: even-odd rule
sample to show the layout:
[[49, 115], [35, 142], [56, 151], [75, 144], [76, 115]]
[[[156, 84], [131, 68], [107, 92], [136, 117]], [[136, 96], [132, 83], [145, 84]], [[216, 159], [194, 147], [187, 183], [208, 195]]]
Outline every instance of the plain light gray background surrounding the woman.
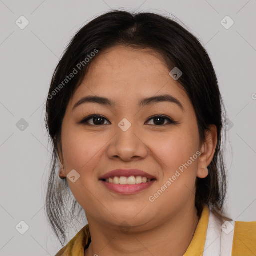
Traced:
[[[62, 247], [44, 212], [47, 92], [72, 35], [110, 9], [177, 17], [203, 43], [229, 119], [225, 207], [234, 220], [256, 220], [255, 0], [0, 0], [0, 255], [55, 255]], [[29, 21], [24, 29], [15, 23], [24, 24], [21, 15]], [[229, 29], [220, 23], [226, 15], [234, 21]], [[29, 226], [24, 234], [15, 228], [21, 220]]]

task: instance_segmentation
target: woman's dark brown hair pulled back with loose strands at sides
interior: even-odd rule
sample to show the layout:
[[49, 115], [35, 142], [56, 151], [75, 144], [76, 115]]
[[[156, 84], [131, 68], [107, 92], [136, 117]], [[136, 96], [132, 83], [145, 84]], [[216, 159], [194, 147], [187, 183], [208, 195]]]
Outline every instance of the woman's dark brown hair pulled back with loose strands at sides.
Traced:
[[[221, 133], [224, 131], [225, 135], [226, 127], [223, 115], [225, 109], [216, 74], [206, 50], [188, 29], [169, 17], [154, 13], [110, 11], [87, 23], [72, 38], [54, 71], [46, 102], [45, 123], [53, 146], [46, 211], [47, 218], [62, 245], [66, 239], [66, 225], [73, 221], [76, 206], [79, 213], [82, 211], [72, 196], [66, 179], [62, 180], [58, 176], [57, 157], [58, 148], [61, 151], [62, 120], [70, 97], [93, 61], [93, 58], [89, 57], [92, 56], [91, 53], [98, 51], [100, 54], [103, 50], [117, 45], [153, 49], [161, 54], [169, 70], [178, 67], [182, 71], [178, 82], [194, 107], [201, 144], [205, 141], [205, 131], [209, 125], [216, 125], [218, 140], [215, 154], [208, 166], [207, 177], [196, 178], [195, 206], [198, 216], [207, 204], [220, 219], [225, 218], [222, 213], [226, 175], [221, 147]], [[85, 58], [88, 57], [90, 60], [86, 62]], [[78, 65], [79, 63], [83, 64]], [[74, 69], [78, 71], [77, 74], [72, 79], [65, 80]], [[72, 205], [68, 215], [65, 204], [69, 199]]]

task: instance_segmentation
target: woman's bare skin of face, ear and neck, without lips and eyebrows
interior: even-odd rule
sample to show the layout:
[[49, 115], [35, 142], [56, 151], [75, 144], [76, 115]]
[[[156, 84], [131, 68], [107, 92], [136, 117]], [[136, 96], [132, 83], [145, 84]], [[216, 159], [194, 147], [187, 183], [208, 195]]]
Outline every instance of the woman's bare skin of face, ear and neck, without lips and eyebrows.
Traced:
[[[115, 46], [99, 52], [86, 77], [70, 99], [62, 123], [60, 161], [63, 177], [75, 169], [80, 177], [69, 187], [85, 210], [92, 242], [85, 256], [94, 255], [183, 255], [199, 218], [195, 207], [195, 180], [208, 175], [216, 142], [216, 126], [200, 146], [196, 115], [192, 104], [159, 54], [150, 49]], [[141, 98], [169, 94], [175, 103], [162, 101], [138, 106]], [[74, 104], [87, 95], [115, 101], [116, 106]], [[78, 122], [90, 114], [100, 114], [103, 125]], [[157, 125], [151, 116], [163, 114], [178, 124]], [[131, 127], [123, 131], [118, 123], [126, 118]], [[157, 121], [157, 120], [156, 120]], [[100, 121], [99, 121], [100, 122]], [[93, 126], [94, 125], [94, 126]], [[196, 151], [201, 155], [157, 198], [154, 195], [179, 166]], [[138, 168], [156, 181], [132, 195], [109, 191], [98, 178], [116, 168]], [[126, 221], [127, 232], [119, 229]], [[125, 226], [125, 224], [122, 223]]]

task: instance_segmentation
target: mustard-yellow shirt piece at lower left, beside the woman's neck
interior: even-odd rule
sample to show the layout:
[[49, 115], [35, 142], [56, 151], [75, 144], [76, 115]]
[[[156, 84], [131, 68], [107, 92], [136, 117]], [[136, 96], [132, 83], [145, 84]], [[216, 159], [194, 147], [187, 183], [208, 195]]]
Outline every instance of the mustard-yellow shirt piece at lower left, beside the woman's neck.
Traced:
[[55, 256], [83, 256], [89, 238], [89, 226], [87, 224]]

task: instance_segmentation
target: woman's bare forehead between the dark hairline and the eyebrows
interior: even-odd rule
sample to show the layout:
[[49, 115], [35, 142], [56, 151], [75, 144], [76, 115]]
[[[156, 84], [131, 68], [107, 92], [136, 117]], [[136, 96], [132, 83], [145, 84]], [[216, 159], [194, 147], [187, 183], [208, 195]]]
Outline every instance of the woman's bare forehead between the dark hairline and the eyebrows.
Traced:
[[128, 104], [166, 93], [178, 98], [183, 105], [189, 104], [183, 87], [169, 75], [169, 71], [162, 56], [152, 49], [109, 48], [91, 60], [73, 95], [72, 105], [84, 95], [108, 97], [117, 104]]

